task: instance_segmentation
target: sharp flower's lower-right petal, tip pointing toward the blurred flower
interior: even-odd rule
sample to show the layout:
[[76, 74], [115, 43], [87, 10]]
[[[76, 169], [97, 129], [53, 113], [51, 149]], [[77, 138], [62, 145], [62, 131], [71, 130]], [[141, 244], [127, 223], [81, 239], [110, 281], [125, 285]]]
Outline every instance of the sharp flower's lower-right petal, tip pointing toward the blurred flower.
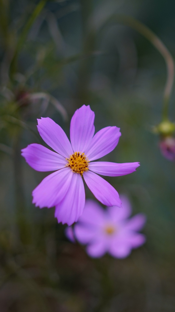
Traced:
[[119, 194], [106, 180], [89, 170], [83, 173], [83, 177], [88, 188], [102, 204], [121, 207]]

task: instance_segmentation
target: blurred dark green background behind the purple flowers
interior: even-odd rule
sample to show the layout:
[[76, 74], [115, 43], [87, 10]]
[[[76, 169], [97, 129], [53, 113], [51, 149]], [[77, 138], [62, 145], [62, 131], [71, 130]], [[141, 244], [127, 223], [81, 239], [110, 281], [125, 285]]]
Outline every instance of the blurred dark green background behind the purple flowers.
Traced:
[[[146, 24], [175, 56], [173, 0], [0, 0], [0, 311], [175, 311], [174, 163], [158, 148], [166, 67], [162, 56], [114, 14]], [[69, 136], [74, 111], [90, 105], [96, 131], [121, 128], [103, 159], [140, 162], [109, 178], [144, 212], [147, 242], [124, 259], [93, 260], [69, 242], [54, 208], [32, 205], [48, 173], [29, 167], [21, 148], [41, 143], [36, 118]], [[66, 113], [67, 112], [67, 113]], [[174, 120], [174, 93], [170, 116]], [[87, 198], [93, 198], [86, 189]]]

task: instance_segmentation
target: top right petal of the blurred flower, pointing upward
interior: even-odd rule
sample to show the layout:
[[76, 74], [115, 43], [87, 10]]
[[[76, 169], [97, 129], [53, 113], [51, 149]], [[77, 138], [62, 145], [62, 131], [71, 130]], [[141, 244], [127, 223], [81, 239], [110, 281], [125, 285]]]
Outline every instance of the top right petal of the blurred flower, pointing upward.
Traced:
[[128, 198], [124, 195], [120, 195], [121, 207], [107, 207], [107, 212], [109, 213], [111, 220], [113, 222], [123, 221], [128, 218], [131, 214], [131, 205]]

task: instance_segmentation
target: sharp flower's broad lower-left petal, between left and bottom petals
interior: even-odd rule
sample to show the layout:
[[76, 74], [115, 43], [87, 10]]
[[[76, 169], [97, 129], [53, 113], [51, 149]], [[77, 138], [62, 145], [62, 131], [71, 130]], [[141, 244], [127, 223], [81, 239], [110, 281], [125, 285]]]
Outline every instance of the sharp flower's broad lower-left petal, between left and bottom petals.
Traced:
[[73, 172], [66, 167], [51, 173], [33, 190], [35, 206], [53, 207], [58, 204], [68, 191]]

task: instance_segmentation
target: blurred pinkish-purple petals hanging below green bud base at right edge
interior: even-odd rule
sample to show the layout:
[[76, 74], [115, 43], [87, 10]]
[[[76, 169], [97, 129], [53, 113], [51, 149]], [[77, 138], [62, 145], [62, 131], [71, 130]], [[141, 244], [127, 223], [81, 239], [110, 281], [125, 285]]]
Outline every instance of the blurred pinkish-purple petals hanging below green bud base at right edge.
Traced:
[[171, 161], [175, 160], [175, 138], [172, 136], [163, 138], [159, 143], [159, 147], [165, 158]]

